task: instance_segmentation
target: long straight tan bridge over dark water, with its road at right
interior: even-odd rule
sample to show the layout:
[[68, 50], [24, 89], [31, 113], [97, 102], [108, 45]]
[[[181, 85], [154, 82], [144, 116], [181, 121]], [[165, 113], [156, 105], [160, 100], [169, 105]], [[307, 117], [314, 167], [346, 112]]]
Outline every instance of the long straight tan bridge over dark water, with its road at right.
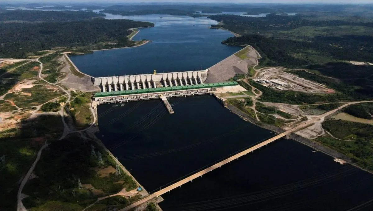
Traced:
[[131, 210], [132, 208], [135, 208], [138, 205], [141, 205], [141, 204], [143, 204], [143, 203], [145, 203], [145, 202], [147, 202], [147, 201], [149, 201], [149, 200], [151, 200], [153, 198], [156, 198], [156, 197], [158, 197], [158, 196], [160, 196], [162, 194], [165, 194], [166, 192], [169, 192], [169, 191], [171, 191], [171, 190], [173, 190], [173, 189], [175, 189], [177, 187], [181, 187], [185, 183], [191, 182], [193, 179], [196, 179], [196, 178], [198, 178], [198, 177], [200, 177], [200, 176], [202, 176], [202, 175], [204, 175], [206, 173], [209, 173], [212, 170], [217, 169], [217, 168], [223, 166], [224, 164], [230, 163], [231, 161], [236, 160], [236, 159], [238, 160], [238, 158], [240, 158], [242, 156], [245, 156], [246, 154], [251, 153], [254, 150], [257, 150], [260, 147], [266, 146], [267, 144], [272, 143], [272, 142], [274, 142], [274, 141], [276, 141], [276, 140], [278, 140], [278, 139], [280, 139], [282, 137], [289, 138], [289, 135], [292, 132], [296, 132], [298, 130], [306, 128], [306, 127], [310, 126], [311, 124], [313, 124], [316, 121], [322, 121], [326, 116], [329, 116], [330, 114], [333, 114], [334, 112], [336, 112], [336, 111], [338, 111], [338, 110], [340, 110], [340, 109], [342, 109], [342, 108], [344, 108], [346, 106], [349, 106], [349, 105], [352, 105], [352, 104], [356, 104], [356, 103], [362, 103], [362, 102], [371, 102], [371, 101], [360, 101], [360, 102], [346, 103], [346, 104], [344, 104], [344, 105], [342, 105], [342, 106], [340, 106], [340, 107], [338, 107], [338, 108], [336, 108], [336, 109], [334, 109], [332, 111], [326, 112], [325, 114], [322, 114], [322, 115], [319, 115], [319, 116], [314, 116], [314, 118], [308, 119], [306, 122], [298, 125], [295, 128], [292, 128], [292, 129], [290, 129], [288, 131], [285, 131], [285, 132], [283, 132], [281, 134], [278, 134], [278, 135], [276, 135], [276, 136], [274, 136], [272, 138], [269, 138], [268, 140], [263, 141], [263, 142], [255, 145], [253, 147], [250, 147], [247, 150], [241, 151], [241, 152], [239, 152], [239, 153], [237, 153], [237, 154], [235, 154], [235, 155], [233, 155], [233, 156], [231, 156], [231, 157], [229, 157], [229, 158], [227, 158], [227, 159], [225, 159], [223, 161], [220, 161], [219, 163], [216, 163], [216, 164], [214, 164], [214, 165], [212, 165], [210, 167], [207, 167], [206, 169], [203, 169], [200, 172], [197, 172], [197, 173], [195, 173], [195, 174], [193, 174], [191, 176], [188, 176], [185, 179], [182, 179], [182, 180], [180, 180], [178, 182], [175, 182], [172, 185], [167, 186], [166, 188], [163, 188], [163, 189], [161, 189], [161, 190], [159, 190], [157, 192], [154, 192], [153, 194], [150, 194], [147, 197], [145, 197], [145, 198], [143, 198], [143, 199], [141, 199], [141, 200], [139, 200], [139, 201], [137, 201], [137, 202], [135, 202], [135, 203], [133, 203], [131, 205], [128, 205], [127, 207], [125, 207], [125, 208], [123, 208], [123, 209], [121, 209], [119, 211]]

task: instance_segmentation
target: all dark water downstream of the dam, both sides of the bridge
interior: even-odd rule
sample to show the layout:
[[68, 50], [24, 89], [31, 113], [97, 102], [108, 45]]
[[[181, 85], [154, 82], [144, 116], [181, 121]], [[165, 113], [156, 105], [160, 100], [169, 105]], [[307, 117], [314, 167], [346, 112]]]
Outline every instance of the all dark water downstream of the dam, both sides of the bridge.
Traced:
[[[170, 103], [172, 115], [160, 100], [98, 106], [97, 136], [147, 191], [274, 135], [211, 96]], [[371, 174], [280, 140], [163, 195], [160, 206], [164, 211], [369, 211], [372, 189]]]

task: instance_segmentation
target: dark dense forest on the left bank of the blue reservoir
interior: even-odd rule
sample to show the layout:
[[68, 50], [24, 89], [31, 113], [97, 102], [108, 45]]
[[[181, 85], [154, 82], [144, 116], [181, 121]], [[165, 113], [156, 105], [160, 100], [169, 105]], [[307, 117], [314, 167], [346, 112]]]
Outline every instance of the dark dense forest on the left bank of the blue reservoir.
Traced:
[[75, 22], [0, 24], [0, 57], [24, 58], [29, 52], [115, 42], [125, 47], [130, 28], [154, 26], [133, 20], [94, 19]]

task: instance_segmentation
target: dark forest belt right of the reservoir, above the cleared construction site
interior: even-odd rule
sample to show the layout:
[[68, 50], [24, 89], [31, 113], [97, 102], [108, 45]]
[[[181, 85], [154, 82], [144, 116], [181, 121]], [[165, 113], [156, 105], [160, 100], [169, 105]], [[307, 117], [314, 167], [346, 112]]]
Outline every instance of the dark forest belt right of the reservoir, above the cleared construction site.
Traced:
[[[335, 60], [366, 61], [373, 62], [373, 37], [354, 36], [364, 39], [365, 49], [361, 43], [352, 40], [344, 48], [333, 47], [327, 42], [304, 42], [267, 38], [261, 35], [244, 35], [228, 38], [223, 43], [229, 45], [252, 45], [261, 52], [263, 59], [261, 65], [284, 66], [289, 68], [305, 68], [310, 64], [320, 64], [311, 61], [305, 55], [317, 54], [319, 56], [331, 57]], [[347, 41], [348, 39], [344, 39]], [[325, 41], [325, 40], [324, 40]], [[303, 57], [294, 55], [303, 54]], [[364, 67], [363, 67], [364, 68]]]

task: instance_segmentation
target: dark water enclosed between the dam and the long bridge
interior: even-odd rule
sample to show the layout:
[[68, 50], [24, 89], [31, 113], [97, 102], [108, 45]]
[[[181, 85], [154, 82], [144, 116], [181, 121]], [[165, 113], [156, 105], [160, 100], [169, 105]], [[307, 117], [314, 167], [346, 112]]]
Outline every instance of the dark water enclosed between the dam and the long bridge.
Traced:
[[175, 114], [161, 100], [98, 106], [100, 138], [147, 191], [274, 135], [242, 121], [212, 96], [169, 102]]

